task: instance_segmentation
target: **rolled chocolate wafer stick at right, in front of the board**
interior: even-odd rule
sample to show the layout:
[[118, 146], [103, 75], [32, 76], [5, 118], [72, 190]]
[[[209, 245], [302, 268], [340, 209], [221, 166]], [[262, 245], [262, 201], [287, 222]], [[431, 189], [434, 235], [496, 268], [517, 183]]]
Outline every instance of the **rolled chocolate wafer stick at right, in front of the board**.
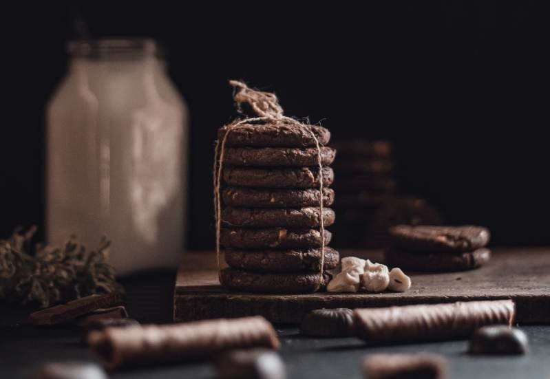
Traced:
[[468, 338], [484, 325], [511, 325], [511, 300], [355, 310], [355, 334], [372, 344]]

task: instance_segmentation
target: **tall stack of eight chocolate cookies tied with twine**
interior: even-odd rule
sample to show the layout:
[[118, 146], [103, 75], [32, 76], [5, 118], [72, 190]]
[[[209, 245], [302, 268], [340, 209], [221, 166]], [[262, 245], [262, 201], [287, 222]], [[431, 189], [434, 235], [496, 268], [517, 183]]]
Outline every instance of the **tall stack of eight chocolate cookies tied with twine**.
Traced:
[[[330, 132], [284, 122], [240, 124], [229, 129], [224, 145], [220, 244], [229, 268], [220, 281], [246, 292], [313, 292], [321, 281], [321, 217], [332, 225], [335, 149]], [[222, 141], [228, 127], [218, 131]], [[320, 150], [320, 151], [319, 151]], [[322, 170], [319, 171], [319, 154]], [[323, 214], [319, 200], [323, 181]], [[324, 230], [324, 270], [339, 263]]]

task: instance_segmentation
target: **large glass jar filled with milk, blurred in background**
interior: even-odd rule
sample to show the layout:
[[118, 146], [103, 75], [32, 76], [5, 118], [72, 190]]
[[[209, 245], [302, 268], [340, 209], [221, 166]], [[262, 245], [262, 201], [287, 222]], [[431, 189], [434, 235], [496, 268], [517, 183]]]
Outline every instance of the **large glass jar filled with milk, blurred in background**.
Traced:
[[47, 105], [46, 231], [102, 235], [118, 274], [175, 267], [185, 235], [187, 106], [150, 39], [68, 44]]

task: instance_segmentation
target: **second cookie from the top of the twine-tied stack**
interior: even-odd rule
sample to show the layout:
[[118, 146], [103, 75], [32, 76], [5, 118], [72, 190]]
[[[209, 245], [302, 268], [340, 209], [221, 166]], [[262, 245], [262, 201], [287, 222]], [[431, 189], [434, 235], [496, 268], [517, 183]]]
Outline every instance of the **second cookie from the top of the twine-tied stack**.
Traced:
[[330, 147], [230, 147], [224, 153], [224, 164], [231, 166], [302, 167], [328, 166], [335, 159], [336, 151]]

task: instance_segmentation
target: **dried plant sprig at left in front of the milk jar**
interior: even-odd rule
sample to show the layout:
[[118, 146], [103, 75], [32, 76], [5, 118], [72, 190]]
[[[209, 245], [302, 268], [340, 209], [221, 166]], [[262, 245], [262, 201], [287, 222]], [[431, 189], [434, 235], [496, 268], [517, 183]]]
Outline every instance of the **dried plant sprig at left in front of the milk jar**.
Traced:
[[122, 292], [115, 270], [107, 263], [110, 241], [86, 251], [75, 235], [63, 246], [36, 244], [36, 227], [0, 239], [0, 299], [41, 308], [91, 294]]

